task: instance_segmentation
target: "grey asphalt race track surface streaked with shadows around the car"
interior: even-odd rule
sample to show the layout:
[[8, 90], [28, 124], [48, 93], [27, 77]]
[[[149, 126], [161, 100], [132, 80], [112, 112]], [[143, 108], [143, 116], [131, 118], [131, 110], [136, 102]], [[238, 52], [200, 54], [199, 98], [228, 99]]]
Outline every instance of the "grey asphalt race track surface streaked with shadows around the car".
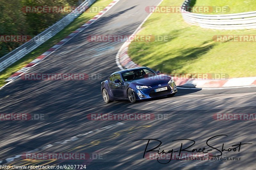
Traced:
[[[100, 82], [119, 70], [115, 56], [122, 42], [88, 42], [86, 36], [131, 35], [148, 16], [145, 7], [156, 6], [159, 2], [160, 0], [119, 1], [88, 29], [29, 71], [102, 74], [100, 80], [17, 79], [4, 87], [0, 91], [0, 113], [45, 114], [48, 118], [40, 121], [1, 121], [0, 160], [52, 144], [51, 147], [41, 148], [36, 152], [103, 154], [103, 159], [68, 162], [85, 164], [87, 169], [255, 169], [255, 121], [216, 121], [212, 116], [215, 113], [255, 113], [256, 88], [179, 89], [177, 96], [171, 98], [162, 97], [135, 104], [128, 101], [109, 104], [103, 102]], [[168, 120], [92, 121], [86, 118], [90, 113], [167, 114]], [[76, 135], [79, 136], [72, 138]], [[223, 143], [227, 148], [240, 142], [252, 145], [242, 145], [240, 152], [223, 152], [226, 157], [240, 157], [241, 160], [172, 160], [169, 164], [160, 164], [157, 160], [142, 159], [146, 141], [132, 142], [158, 139], [163, 142], [161, 149], [167, 152], [172, 147], [180, 147], [180, 142], [172, 140], [193, 139], [196, 144], [192, 148], [203, 148], [207, 147], [206, 140], [216, 135], [228, 135], [212, 140], [212, 145], [219, 149]], [[156, 144], [152, 143], [150, 147]], [[219, 152], [213, 152], [215, 153]], [[20, 159], [8, 164], [43, 163], [66, 164], [61, 161]]]

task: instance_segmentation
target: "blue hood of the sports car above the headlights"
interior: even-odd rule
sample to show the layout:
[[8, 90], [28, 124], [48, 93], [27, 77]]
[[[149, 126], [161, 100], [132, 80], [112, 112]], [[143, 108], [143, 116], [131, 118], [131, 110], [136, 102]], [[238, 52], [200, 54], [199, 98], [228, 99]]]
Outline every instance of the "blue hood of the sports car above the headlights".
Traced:
[[155, 84], [168, 83], [171, 80], [171, 77], [165, 74], [156, 75], [153, 77], [143, 78], [139, 80], [132, 81], [137, 85], [152, 86]]

